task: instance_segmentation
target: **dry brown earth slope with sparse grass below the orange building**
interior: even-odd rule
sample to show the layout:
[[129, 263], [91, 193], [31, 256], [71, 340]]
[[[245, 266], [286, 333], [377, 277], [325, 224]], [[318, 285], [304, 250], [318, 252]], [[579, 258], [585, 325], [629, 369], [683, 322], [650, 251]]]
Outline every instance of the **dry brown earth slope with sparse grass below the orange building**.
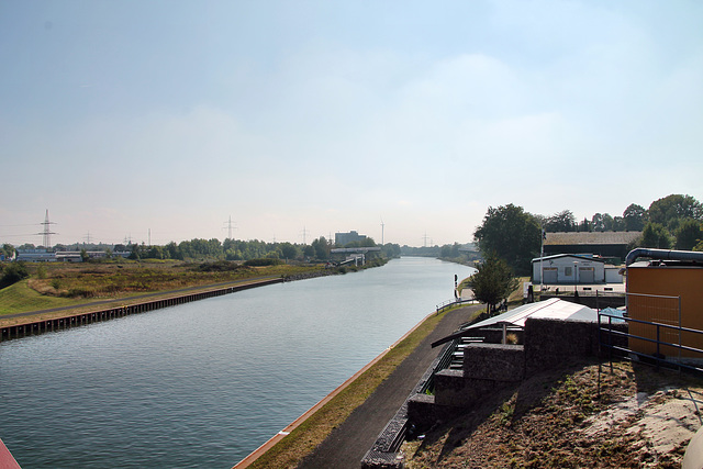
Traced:
[[408, 468], [680, 467], [703, 380], [627, 361], [525, 380], [406, 443]]

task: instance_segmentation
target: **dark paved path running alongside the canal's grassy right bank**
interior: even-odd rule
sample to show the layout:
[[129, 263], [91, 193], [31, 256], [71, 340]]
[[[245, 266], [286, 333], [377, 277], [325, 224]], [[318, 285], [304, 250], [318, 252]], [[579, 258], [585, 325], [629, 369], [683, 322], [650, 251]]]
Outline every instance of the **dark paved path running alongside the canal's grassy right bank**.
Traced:
[[435, 330], [405, 358], [386, 381], [299, 466], [302, 469], [361, 467], [366, 455], [386, 424], [405, 402], [439, 349], [429, 344], [455, 332], [470, 315], [484, 308], [471, 305], [450, 311]]

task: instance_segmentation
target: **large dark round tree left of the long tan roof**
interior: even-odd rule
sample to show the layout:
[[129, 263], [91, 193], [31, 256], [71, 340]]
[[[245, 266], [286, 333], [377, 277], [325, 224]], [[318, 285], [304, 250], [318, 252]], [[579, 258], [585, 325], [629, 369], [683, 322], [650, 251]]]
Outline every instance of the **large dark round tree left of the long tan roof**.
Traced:
[[496, 209], [489, 206], [473, 239], [483, 257], [495, 254], [518, 275], [528, 275], [531, 260], [539, 253], [540, 233], [535, 215], [510, 203]]

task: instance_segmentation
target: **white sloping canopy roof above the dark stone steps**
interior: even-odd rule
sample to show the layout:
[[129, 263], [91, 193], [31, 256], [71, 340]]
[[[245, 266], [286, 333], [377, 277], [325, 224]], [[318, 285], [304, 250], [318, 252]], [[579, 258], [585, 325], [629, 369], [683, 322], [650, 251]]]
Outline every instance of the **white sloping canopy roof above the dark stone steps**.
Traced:
[[471, 324], [467, 330], [486, 327], [494, 324], [507, 324], [525, 327], [525, 321], [527, 317], [596, 322], [598, 313], [595, 310], [582, 306], [581, 304], [559, 300], [558, 298], [550, 298], [549, 300], [539, 301], [537, 303], [524, 304], [506, 313]]

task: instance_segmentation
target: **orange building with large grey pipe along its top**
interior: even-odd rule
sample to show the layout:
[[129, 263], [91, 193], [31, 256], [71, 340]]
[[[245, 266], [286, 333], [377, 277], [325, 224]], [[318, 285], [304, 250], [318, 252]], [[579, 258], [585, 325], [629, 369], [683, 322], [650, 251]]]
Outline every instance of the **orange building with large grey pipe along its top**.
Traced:
[[[638, 257], [652, 260], [637, 261]], [[627, 255], [627, 315], [674, 327], [701, 331], [701, 334], [665, 326], [629, 323], [629, 334], [652, 340], [703, 349], [703, 253], [634, 249]], [[659, 330], [657, 332], [657, 330]], [[693, 350], [659, 346], [646, 339], [629, 339], [634, 351], [667, 358], [703, 358]]]

